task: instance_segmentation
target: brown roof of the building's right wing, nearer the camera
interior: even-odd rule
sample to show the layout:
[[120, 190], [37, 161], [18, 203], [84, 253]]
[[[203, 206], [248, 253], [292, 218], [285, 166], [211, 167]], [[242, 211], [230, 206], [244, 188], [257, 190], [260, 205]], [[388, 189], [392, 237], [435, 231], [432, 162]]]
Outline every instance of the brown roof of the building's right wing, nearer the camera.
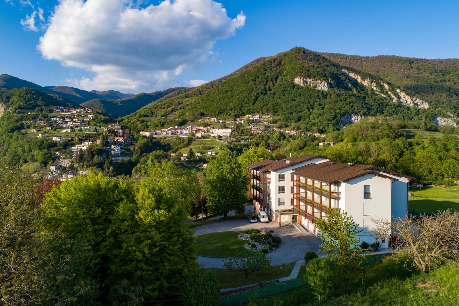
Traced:
[[[385, 176], [379, 172], [372, 171], [375, 166], [368, 164], [344, 164], [344, 163], [320, 163], [308, 164], [294, 169], [293, 175], [307, 177], [316, 181], [332, 184], [337, 181], [349, 181], [365, 174], [374, 174], [391, 180], [398, 181], [396, 178]], [[382, 169], [382, 168], [381, 168]], [[379, 170], [379, 169], [378, 169]], [[388, 171], [388, 170], [386, 170]]]

